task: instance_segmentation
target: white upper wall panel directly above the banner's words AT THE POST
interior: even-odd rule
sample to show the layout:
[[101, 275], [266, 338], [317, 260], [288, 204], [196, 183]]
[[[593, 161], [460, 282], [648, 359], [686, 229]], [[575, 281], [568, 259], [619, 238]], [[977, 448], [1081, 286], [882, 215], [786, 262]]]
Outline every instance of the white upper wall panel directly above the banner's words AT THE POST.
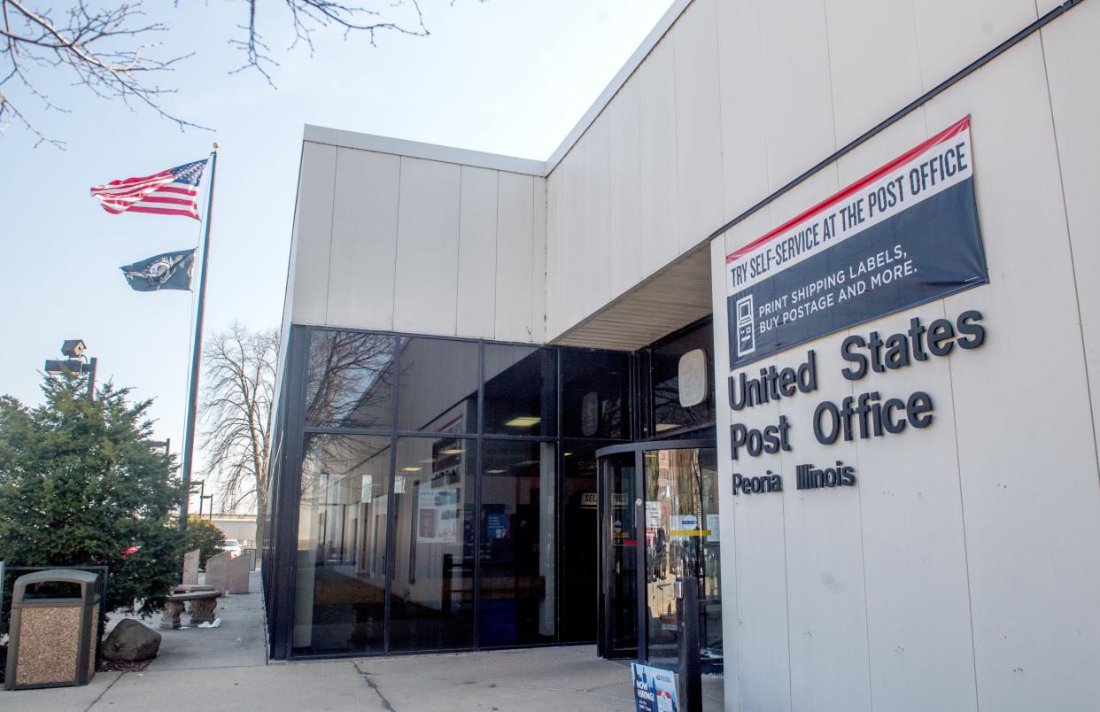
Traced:
[[826, 0], [825, 12], [842, 146], [923, 92], [916, 23], [912, 0]]

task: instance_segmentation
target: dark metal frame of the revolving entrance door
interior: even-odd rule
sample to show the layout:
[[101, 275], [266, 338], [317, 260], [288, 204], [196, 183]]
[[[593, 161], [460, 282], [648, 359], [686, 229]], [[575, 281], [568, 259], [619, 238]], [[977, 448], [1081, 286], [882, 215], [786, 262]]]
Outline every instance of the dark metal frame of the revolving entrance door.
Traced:
[[[625, 445], [613, 445], [596, 450], [596, 490], [598, 514], [596, 521], [600, 523], [600, 560], [597, 568], [600, 571], [600, 605], [597, 625], [597, 653], [601, 657], [607, 657], [610, 646], [610, 585], [607, 570], [608, 536], [610, 530], [610, 510], [607, 502], [607, 486], [605, 483], [604, 459], [609, 456], [634, 453], [634, 522], [635, 532], [640, 534], [637, 545], [637, 561], [635, 565], [635, 577], [637, 578], [637, 602], [638, 602], [638, 654], [637, 659], [645, 661], [649, 659], [649, 631], [646, 616], [646, 547], [645, 540], [645, 507], [646, 507], [646, 452], [659, 450], [691, 450], [717, 447], [715, 440], [644, 440], [640, 442], [627, 442]], [[640, 523], [640, 524], [639, 524]]]

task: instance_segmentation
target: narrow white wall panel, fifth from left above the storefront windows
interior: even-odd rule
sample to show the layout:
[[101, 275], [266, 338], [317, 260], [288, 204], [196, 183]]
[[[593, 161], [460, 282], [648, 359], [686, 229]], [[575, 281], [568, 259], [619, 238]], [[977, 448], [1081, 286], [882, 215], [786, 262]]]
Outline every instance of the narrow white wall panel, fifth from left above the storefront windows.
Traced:
[[[535, 178], [501, 173], [496, 230], [497, 339], [531, 341], [531, 264], [535, 259]], [[482, 309], [485, 305], [481, 305]]]

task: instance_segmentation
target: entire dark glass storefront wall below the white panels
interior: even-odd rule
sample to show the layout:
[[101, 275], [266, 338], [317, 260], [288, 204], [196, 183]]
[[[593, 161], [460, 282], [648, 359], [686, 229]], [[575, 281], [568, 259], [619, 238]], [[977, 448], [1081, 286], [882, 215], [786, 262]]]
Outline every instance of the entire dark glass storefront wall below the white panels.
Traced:
[[[265, 563], [297, 557], [293, 581], [280, 584], [274, 566], [264, 581], [268, 601], [293, 595], [294, 625], [287, 640], [273, 624], [273, 646], [311, 656], [591, 643], [603, 611], [620, 624], [614, 650], [637, 650], [641, 601], [630, 581], [657, 571], [639, 572], [632, 558], [641, 545], [632, 529], [640, 525], [625, 517], [634, 460], [605, 485], [622, 516], [601, 523], [595, 451], [638, 436], [636, 426], [648, 436], [654, 420], [676, 428], [713, 420], [713, 375], [705, 403], [680, 407], [666, 393], [679, 388], [679, 355], [708, 331], [629, 354], [296, 329], [308, 339], [308, 363], [305, 372], [300, 361], [287, 365], [288, 383], [298, 380], [285, 393], [305, 392], [305, 417], [280, 412], [276, 425], [300, 418], [293, 425], [305, 432], [294, 437], [304, 440], [290, 456], [276, 439], [275, 459], [286, 462], [274, 470], [264, 546]], [[276, 500], [297, 489], [290, 458], [299, 452], [295, 541], [275, 535], [279, 507], [296, 504]], [[716, 503], [714, 482], [703, 478]], [[617, 548], [602, 570], [604, 528]], [[700, 544], [705, 600], [717, 611], [717, 537]], [[632, 613], [605, 610], [614, 598], [607, 585], [626, 587], [615, 595], [634, 596]], [[648, 603], [667, 624], [668, 601]], [[717, 620], [712, 613], [704, 617]], [[704, 627], [705, 645], [721, 655], [717, 624]]]

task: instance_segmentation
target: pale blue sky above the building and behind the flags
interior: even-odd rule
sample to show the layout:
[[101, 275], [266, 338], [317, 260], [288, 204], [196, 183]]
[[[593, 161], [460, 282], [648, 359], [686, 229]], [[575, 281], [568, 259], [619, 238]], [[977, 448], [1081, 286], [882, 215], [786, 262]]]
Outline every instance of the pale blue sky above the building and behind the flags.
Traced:
[[179, 89], [165, 108], [213, 132], [180, 133], [70, 87], [70, 77], [37, 73], [69, 112], [30, 99], [20, 108], [67, 146], [35, 149], [18, 124], [0, 133], [0, 393], [38, 403], [43, 361], [80, 338], [99, 380], [155, 399], [156, 437], [178, 452], [193, 293], [133, 292], [119, 266], [195, 247], [200, 223], [111, 216], [89, 187], [202, 158], [218, 141], [206, 333], [234, 319], [278, 327], [304, 124], [546, 160], [670, 0], [422, 0], [431, 36], [380, 34], [372, 47], [319, 31], [312, 57], [285, 51], [293, 36], [279, 6], [261, 3], [277, 89], [255, 72], [230, 74], [243, 61], [229, 40], [244, 3], [145, 9], [170, 29], [160, 37], [166, 55], [195, 53], [162, 79]]

